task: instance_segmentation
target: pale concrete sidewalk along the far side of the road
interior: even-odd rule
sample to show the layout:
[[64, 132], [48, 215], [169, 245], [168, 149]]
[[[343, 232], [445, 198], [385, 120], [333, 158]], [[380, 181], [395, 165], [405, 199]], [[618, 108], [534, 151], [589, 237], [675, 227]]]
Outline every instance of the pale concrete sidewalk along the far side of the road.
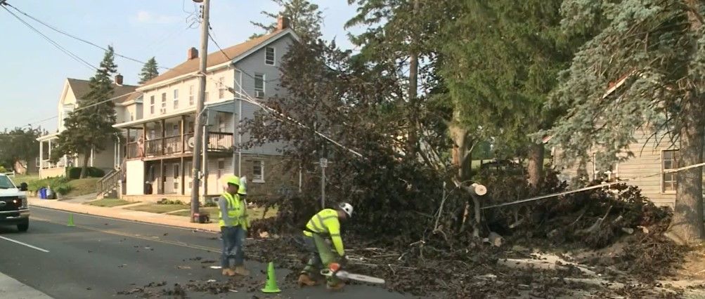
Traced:
[[[137, 222], [146, 222], [152, 224], [168, 225], [171, 227], [183, 227], [185, 229], [200, 229], [204, 231], [220, 231], [217, 222], [212, 223], [192, 223], [188, 217], [157, 214], [150, 212], [142, 212], [135, 210], [126, 210], [118, 207], [104, 208], [94, 205], [83, 205], [80, 203], [67, 203], [50, 199], [27, 198], [30, 206], [49, 208], [54, 210], [63, 210], [68, 212], [76, 212], [87, 215], [95, 215], [102, 217], [110, 217], [121, 220], [133, 220]], [[31, 209], [31, 207], [30, 207]], [[30, 216], [30, 219], [32, 217]]]

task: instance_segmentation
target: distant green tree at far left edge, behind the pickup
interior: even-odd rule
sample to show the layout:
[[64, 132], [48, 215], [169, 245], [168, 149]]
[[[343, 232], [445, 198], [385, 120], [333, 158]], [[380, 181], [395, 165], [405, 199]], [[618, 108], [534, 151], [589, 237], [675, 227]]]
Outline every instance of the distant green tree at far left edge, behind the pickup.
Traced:
[[0, 162], [6, 164], [8, 169], [14, 167], [14, 163], [17, 161], [34, 163], [35, 158], [39, 157], [37, 137], [41, 134], [42, 129], [39, 128], [5, 129], [0, 133]]

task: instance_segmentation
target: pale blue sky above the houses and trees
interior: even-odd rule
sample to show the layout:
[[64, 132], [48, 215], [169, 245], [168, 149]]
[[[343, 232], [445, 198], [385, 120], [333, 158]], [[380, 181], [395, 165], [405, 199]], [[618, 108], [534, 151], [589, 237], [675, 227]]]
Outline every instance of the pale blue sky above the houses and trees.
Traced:
[[[345, 0], [309, 0], [324, 14], [324, 39], [335, 39], [343, 49], [352, 49], [345, 21], [355, 15], [355, 6]], [[199, 49], [198, 8], [192, 0], [8, 0], [21, 11], [99, 46], [112, 45], [116, 53], [140, 61], [152, 56], [160, 66], [173, 67], [186, 60], [186, 51]], [[9, 8], [11, 11], [12, 8]], [[245, 42], [262, 33], [250, 21], [269, 22], [260, 11], [279, 11], [269, 0], [212, 0], [211, 27], [223, 48]], [[16, 11], [13, 11], [16, 13]], [[19, 14], [18, 14], [19, 15]], [[92, 65], [99, 65], [104, 51], [65, 37], [19, 15], [54, 42]], [[4, 9], [0, 9], [0, 131], [4, 128], [41, 126], [56, 130], [59, 97], [67, 77], [88, 79], [95, 70], [66, 55], [33, 32]], [[353, 33], [360, 28], [350, 29]], [[208, 51], [216, 51], [211, 42]], [[125, 84], [137, 84], [141, 63], [116, 57]], [[163, 71], [163, 70], [160, 70]], [[46, 120], [49, 117], [55, 117]], [[44, 120], [44, 121], [42, 121]], [[40, 122], [42, 121], [42, 122]]]

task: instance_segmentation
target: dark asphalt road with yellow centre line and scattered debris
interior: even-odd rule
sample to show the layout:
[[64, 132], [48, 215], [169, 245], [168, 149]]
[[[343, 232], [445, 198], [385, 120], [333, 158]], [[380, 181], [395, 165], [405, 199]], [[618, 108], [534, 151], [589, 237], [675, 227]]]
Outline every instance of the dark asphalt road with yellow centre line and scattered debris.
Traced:
[[[174, 284], [192, 281], [227, 281], [220, 275], [220, 241], [217, 234], [114, 220], [90, 215], [74, 215], [76, 227], [67, 227], [68, 212], [32, 207], [30, 230], [0, 227], [0, 273], [53, 298], [144, 298], [133, 291], [166, 281], [165, 286], [146, 288], [160, 294]], [[265, 266], [247, 261], [252, 272], [248, 281], [264, 281]], [[324, 286], [284, 288], [286, 269], [277, 269], [280, 298], [329, 298]], [[243, 279], [243, 278], [235, 278]], [[188, 298], [266, 298], [250, 293], [245, 286], [231, 293], [212, 295], [188, 291]], [[346, 286], [335, 298], [407, 298], [374, 286]], [[161, 295], [161, 298], [168, 296]]]

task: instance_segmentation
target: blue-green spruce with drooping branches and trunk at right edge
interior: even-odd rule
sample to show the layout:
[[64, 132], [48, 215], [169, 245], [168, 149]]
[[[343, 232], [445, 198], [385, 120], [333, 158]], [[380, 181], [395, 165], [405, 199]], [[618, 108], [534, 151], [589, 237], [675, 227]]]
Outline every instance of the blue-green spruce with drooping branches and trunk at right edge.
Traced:
[[[551, 141], [578, 163], [596, 146], [603, 151], [603, 162], [611, 163], [625, 151], [634, 155], [627, 146], [636, 141], [636, 133], [654, 132], [657, 141], [666, 136], [679, 149], [679, 166], [701, 163], [702, 1], [566, 0], [561, 11], [566, 32], [599, 34], [582, 46], [560, 77], [552, 104], [568, 113], [548, 132], [554, 136]], [[677, 180], [670, 236], [695, 243], [704, 236], [702, 169], [680, 171]]]

